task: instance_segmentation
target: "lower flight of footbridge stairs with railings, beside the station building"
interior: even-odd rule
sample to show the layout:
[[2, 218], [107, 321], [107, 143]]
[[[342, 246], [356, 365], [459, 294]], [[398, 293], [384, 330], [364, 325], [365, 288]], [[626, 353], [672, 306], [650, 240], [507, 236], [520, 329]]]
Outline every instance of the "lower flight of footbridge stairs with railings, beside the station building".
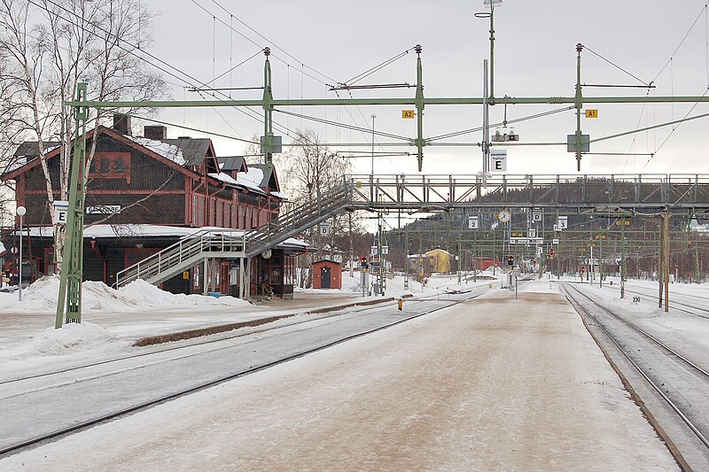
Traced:
[[201, 253], [206, 253], [205, 257], [208, 257], [208, 253], [243, 252], [245, 247], [245, 235], [242, 230], [202, 229], [121, 270], [116, 274], [115, 286], [120, 288], [137, 279], [150, 279], [173, 270]]

